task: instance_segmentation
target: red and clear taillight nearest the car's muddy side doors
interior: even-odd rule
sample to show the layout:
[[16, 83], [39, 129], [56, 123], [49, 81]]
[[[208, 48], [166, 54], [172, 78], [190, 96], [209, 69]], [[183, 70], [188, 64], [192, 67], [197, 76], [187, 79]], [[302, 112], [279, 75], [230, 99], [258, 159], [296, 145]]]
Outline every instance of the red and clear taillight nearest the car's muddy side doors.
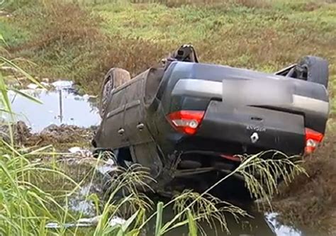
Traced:
[[194, 135], [203, 120], [204, 111], [175, 111], [168, 115], [170, 123], [179, 132]]

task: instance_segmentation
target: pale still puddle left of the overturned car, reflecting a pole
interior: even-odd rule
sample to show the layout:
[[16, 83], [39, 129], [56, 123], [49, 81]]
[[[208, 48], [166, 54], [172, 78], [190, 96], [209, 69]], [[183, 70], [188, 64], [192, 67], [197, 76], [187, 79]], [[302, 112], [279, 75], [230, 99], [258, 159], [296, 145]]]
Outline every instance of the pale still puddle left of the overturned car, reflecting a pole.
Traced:
[[69, 81], [44, 85], [52, 86], [53, 89], [50, 91], [38, 89], [34, 84], [29, 84], [28, 89], [22, 90], [42, 101], [42, 104], [30, 101], [19, 94], [9, 93], [16, 120], [25, 122], [33, 132], [40, 132], [51, 124], [79, 127], [99, 125], [99, 111], [94, 106], [93, 97], [80, 96]]

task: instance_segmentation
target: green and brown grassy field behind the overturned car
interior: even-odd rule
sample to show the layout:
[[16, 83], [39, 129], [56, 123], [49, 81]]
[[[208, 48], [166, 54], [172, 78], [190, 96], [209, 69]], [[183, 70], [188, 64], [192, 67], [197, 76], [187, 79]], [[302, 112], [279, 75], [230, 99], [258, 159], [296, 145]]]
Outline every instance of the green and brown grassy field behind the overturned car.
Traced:
[[[177, 46], [192, 43], [204, 62], [267, 72], [303, 55], [326, 57], [334, 99], [335, 3], [140, 2], [35, 0], [31, 7], [31, 1], [21, 1], [20, 7], [11, 4], [5, 8], [12, 15], [0, 18], [0, 29], [13, 57], [35, 62], [22, 64], [28, 72], [38, 77], [74, 79], [91, 94], [98, 93], [101, 77], [110, 67], [123, 67], [134, 76]], [[333, 101], [333, 116], [335, 106]]]

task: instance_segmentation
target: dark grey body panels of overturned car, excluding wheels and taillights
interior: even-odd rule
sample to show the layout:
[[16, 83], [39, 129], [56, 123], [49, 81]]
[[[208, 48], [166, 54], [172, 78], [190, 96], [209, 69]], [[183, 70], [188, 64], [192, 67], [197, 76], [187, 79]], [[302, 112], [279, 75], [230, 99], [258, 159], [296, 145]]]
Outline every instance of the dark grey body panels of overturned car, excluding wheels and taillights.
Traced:
[[[167, 120], [169, 113], [181, 110], [205, 111], [195, 135], [177, 132]], [[172, 62], [113, 90], [94, 145], [128, 149], [127, 158], [149, 167], [157, 178], [167, 169], [178, 169], [184, 157], [208, 166], [220, 154], [303, 154], [305, 128], [324, 134], [328, 113], [322, 84], [222, 65]], [[256, 142], [251, 140], [254, 133]]]

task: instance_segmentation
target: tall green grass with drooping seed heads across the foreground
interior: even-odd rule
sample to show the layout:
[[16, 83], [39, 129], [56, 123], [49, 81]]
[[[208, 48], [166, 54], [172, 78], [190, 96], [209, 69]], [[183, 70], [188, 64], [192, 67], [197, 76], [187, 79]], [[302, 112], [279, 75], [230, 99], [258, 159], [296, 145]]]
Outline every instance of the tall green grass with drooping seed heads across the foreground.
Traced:
[[[13, 67], [23, 74], [31, 82], [40, 85], [33, 77], [18, 67], [13, 61], [0, 57], [0, 67]], [[0, 74], [1, 91], [1, 112], [11, 114], [11, 102], [7, 92], [9, 89], [5, 84], [5, 77]], [[28, 94], [14, 90], [37, 102]], [[9, 120], [9, 135], [11, 143], [1, 140], [0, 145], [0, 232], [1, 235], [139, 235], [140, 231], [147, 225], [151, 218], [157, 218], [155, 236], [164, 235], [176, 227], [189, 225], [189, 234], [198, 235], [198, 221], [206, 220], [211, 225], [217, 220], [220, 225], [229, 231], [224, 213], [231, 213], [238, 218], [246, 216], [245, 210], [220, 201], [208, 195], [208, 191], [225, 181], [231, 175], [240, 173], [247, 178], [247, 187], [254, 196], [266, 197], [267, 192], [259, 184], [257, 179], [250, 175], [250, 167], [259, 169], [264, 173], [264, 184], [269, 193], [274, 191], [274, 178], [283, 175], [290, 180], [291, 174], [279, 172], [283, 164], [288, 164], [288, 159], [276, 163], [264, 162], [259, 155], [254, 155], [244, 159], [240, 167], [235, 172], [225, 176], [213, 187], [201, 194], [186, 191], [173, 198], [172, 201], [163, 205], [157, 204], [157, 212], [150, 213], [152, 201], [150, 198], [139, 192], [138, 186], [147, 187], [147, 180], [150, 179], [145, 169], [135, 165], [130, 169], [121, 169], [121, 173], [113, 172], [111, 181], [104, 181], [108, 184], [107, 201], [101, 203], [101, 199], [96, 194], [86, 193], [85, 201], [93, 201], [96, 206], [96, 224], [91, 225], [91, 229], [82, 232], [78, 225], [74, 225], [74, 230], [68, 230], [66, 223], [69, 220], [75, 221], [82, 218], [84, 213], [73, 215], [69, 209], [69, 198], [75, 191], [81, 188], [84, 181], [89, 181], [89, 188], [97, 179], [96, 169], [101, 162], [101, 157], [96, 159], [93, 167], [86, 169], [81, 174], [76, 174], [78, 179], [74, 181], [65, 172], [58, 168], [56, 162], [57, 154], [47, 152], [50, 147], [42, 147], [37, 150], [21, 150], [17, 143], [14, 143], [11, 120]], [[46, 157], [52, 155], [51, 163], [31, 162], [36, 155]], [[291, 164], [294, 172], [302, 172], [301, 167]], [[62, 168], [65, 169], [65, 168]], [[72, 169], [72, 168], [69, 168]], [[254, 172], [254, 170], [252, 170]], [[70, 172], [68, 172], [70, 173]], [[275, 174], [275, 175], [274, 175]], [[83, 176], [84, 175], [84, 176]], [[52, 179], [52, 181], [50, 181]], [[150, 187], [150, 186], [148, 186]], [[117, 197], [123, 193], [123, 196]], [[226, 206], [218, 207], [225, 204]], [[164, 208], [173, 205], [177, 209], [176, 215], [167, 223], [162, 222]], [[100, 210], [101, 209], [101, 210]], [[111, 220], [117, 215], [130, 214], [125, 222], [111, 225]], [[147, 214], [151, 215], [148, 217]], [[50, 221], [59, 225], [59, 228], [50, 230], [47, 223]]]

